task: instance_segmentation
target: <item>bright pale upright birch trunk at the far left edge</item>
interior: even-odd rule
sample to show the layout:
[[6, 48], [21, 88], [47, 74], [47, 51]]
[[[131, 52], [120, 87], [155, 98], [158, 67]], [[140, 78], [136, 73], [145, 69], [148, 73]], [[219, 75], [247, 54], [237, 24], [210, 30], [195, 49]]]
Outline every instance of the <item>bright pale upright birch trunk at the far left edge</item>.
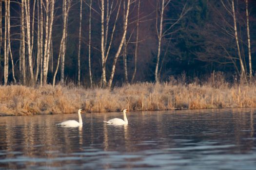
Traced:
[[9, 69], [9, 46], [7, 42], [7, 19], [8, 19], [8, 2], [5, 4], [5, 16], [4, 16], [4, 85], [8, 83], [8, 69]]

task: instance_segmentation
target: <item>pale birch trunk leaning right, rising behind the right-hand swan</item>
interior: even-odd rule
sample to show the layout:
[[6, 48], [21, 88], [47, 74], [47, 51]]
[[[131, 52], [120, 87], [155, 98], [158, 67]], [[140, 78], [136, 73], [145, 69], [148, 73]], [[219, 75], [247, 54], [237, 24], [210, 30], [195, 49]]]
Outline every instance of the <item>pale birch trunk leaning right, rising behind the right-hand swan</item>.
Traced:
[[122, 38], [121, 38], [121, 42], [119, 44], [119, 47], [118, 47], [118, 51], [115, 55], [115, 58], [114, 58], [114, 62], [113, 62], [113, 66], [112, 66], [112, 71], [111, 71], [111, 77], [109, 79], [109, 82], [108, 82], [108, 87], [111, 87], [112, 85], [112, 82], [113, 82], [113, 78], [114, 78], [114, 75], [115, 75], [115, 70], [116, 70], [116, 64], [117, 64], [117, 60], [118, 60], [118, 56], [120, 54], [120, 51], [122, 49], [122, 46], [123, 46], [123, 42], [124, 42], [124, 38], [126, 36], [126, 32], [127, 32], [127, 24], [128, 24], [128, 16], [129, 16], [129, 9], [130, 9], [130, 0], [127, 0], [127, 9], [126, 9], [126, 14], [125, 14], [125, 22], [124, 22], [124, 33], [122, 35]]

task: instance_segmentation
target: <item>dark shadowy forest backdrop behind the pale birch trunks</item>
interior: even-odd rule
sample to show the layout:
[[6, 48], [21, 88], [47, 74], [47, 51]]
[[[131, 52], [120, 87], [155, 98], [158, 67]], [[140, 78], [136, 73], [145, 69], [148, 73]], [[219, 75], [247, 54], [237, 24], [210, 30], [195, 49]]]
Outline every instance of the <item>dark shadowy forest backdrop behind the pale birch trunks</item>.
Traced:
[[[46, 0], [42, 0], [46, 3]], [[127, 1], [127, 0], [126, 0]], [[154, 82], [155, 69], [158, 53], [159, 13], [162, 0], [140, 0], [138, 17], [138, 0], [131, 0], [127, 34], [127, 72], [128, 82], [131, 82], [135, 69], [135, 45], [138, 27], [138, 58], [137, 72], [134, 82]], [[166, 3], [168, 0], [165, 0]], [[28, 1], [30, 9], [33, 10], [34, 0]], [[112, 0], [109, 0], [111, 4]], [[20, 3], [19, 0], [10, 1], [10, 42], [14, 61], [14, 72], [17, 83], [23, 84], [22, 72], [20, 71]], [[47, 83], [52, 84], [54, 71], [57, 66], [60, 40], [62, 37], [63, 1], [56, 0], [54, 6], [54, 20], [52, 33], [52, 52], [49, 60], [49, 71]], [[105, 0], [105, 4], [107, 0]], [[122, 0], [114, 0], [113, 16], [109, 21], [109, 32], [115, 24], [118, 4]], [[68, 16], [67, 41], [65, 51], [65, 83], [78, 83], [78, 49], [79, 49], [79, 13], [80, 0], [72, 0]], [[90, 86], [88, 68], [88, 44], [89, 44], [89, 9], [90, 0], [82, 0], [81, 20], [81, 49], [80, 49], [80, 73], [81, 85]], [[91, 18], [91, 71], [94, 85], [101, 82], [101, 0], [92, 1]], [[241, 76], [241, 68], [237, 54], [237, 44], [234, 34], [234, 16], [229, 12], [232, 0], [171, 0], [164, 10], [163, 31], [168, 34], [161, 40], [161, 51], [159, 57], [159, 81], [170, 81], [173, 77], [186, 75], [191, 79], [197, 77], [204, 79], [213, 72], [220, 71], [226, 79], [233, 81], [235, 77]], [[237, 36], [239, 40], [240, 53], [245, 66], [246, 76], [249, 77], [248, 58], [248, 36], [246, 25], [246, 3], [245, 0], [234, 0], [236, 11]], [[121, 5], [121, 8], [122, 5]], [[228, 8], [228, 9], [227, 9]], [[37, 10], [37, 5], [36, 5]], [[186, 13], [180, 20], [182, 10]], [[2, 41], [4, 40], [4, 17], [5, 1], [2, 1]], [[255, 75], [256, 69], [256, 0], [248, 0], [250, 43], [252, 56], [252, 71]], [[32, 12], [31, 12], [32, 13]], [[113, 37], [113, 45], [106, 62], [106, 77], [111, 74], [115, 53], [123, 34], [123, 10], [117, 20], [116, 30]], [[32, 18], [32, 16], [31, 16]], [[35, 25], [37, 24], [37, 12], [35, 12]], [[158, 21], [157, 21], [158, 19]], [[175, 23], [170, 28], [170, 23]], [[31, 19], [32, 22], [32, 19]], [[34, 32], [34, 46], [37, 46], [37, 26]], [[110, 37], [110, 34], [108, 35]], [[109, 38], [110, 39], [110, 38]], [[4, 50], [3, 42], [0, 51], [0, 83], [4, 84]], [[36, 70], [36, 48], [33, 51], [33, 70]], [[125, 83], [123, 48], [119, 54], [113, 85]], [[27, 55], [27, 51], [25, 53]], [[26, 65], [28, 59], [26, 59]], [[9, 77], [7, 84], [13, 84], [12, 65], [9, 59]], [[59, 68], [60, 69], [60, 68]], [[29, 71], [26, 71], [29, 74]], [[40, 76], [40, 75], [39, 75]], [[29, 77], [27, 77], [29, 81]], [[60, 80], [60, 71], [57, 73], [56, 82]], [[39, 79], [38, 79], [39, 82]]]

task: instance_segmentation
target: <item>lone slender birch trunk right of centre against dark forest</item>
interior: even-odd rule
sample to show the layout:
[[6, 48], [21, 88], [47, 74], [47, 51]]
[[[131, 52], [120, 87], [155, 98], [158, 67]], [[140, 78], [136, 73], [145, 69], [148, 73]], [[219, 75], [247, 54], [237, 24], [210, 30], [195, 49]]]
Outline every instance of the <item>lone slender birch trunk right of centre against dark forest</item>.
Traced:
[[[155, 70], [155, 81], [158, 83], [158, 66], [159, 66], [159, 59], [160, 59], [160, 53], [161, 53], [161, 40], [162, 40], [162, 30], [163, 30], [163, 12], [164, 12], [164, 0], [162, 0], [161, 5], [161, 13], [160, 13], [160, 25], [159, 25], [159, 33], [158, 33], [158, 56], [157, 56], [157, 64], [156, 64], [156, 70]], [[157, 23], [158, 24], [158, 23]]]

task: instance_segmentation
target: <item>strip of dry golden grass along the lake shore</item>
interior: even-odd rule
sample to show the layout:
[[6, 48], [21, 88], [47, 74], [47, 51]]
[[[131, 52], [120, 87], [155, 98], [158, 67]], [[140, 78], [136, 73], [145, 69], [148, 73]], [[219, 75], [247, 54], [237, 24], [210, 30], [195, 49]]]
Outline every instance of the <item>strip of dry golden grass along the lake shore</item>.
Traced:
[[139, 83], [113, 90], [56, 86], [0, 86], [0, 115], [129, 110], [255, 107], [256, 87], [228, 83]]

